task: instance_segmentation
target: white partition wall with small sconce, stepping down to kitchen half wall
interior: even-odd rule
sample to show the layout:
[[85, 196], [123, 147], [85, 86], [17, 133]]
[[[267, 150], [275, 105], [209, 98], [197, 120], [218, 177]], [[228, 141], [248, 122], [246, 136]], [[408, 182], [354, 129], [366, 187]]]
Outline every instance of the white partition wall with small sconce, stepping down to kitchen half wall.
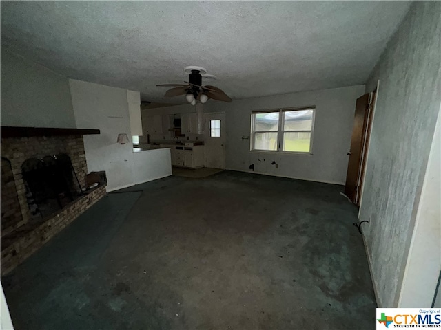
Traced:
[[170, 151], [133, 153], [131, 141], [116, 143], [119, 133], [131, 135], [125, 89], [71, 79], [70, 90], [76, 124], [101, 130], [84, 136], [84, 150], [89, 171], [105, 170], [107, 191], [172, 175]]

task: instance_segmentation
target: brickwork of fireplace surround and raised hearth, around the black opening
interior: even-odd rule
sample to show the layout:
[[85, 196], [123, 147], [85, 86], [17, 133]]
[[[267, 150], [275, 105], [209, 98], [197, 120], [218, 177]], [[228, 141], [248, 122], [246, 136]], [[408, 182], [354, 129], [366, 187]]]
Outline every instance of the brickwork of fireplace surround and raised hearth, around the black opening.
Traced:
[[84, 188], [87, 164], [82, 135], [1, 138], [1, 274], [13, 270], [105, 195], [105, 186], [99, 186], [50, 217], [32, 217], [21, 165], [26, 159], [59, 153], [70, 157]]

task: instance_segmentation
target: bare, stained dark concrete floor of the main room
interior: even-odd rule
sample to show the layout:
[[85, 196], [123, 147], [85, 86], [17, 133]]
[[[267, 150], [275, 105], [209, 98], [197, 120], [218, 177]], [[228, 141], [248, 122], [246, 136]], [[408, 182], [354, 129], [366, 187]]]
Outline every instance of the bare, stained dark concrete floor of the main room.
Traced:
[[119, 190], [2, 278], [12, 321], [17, 330], [373, 329], [356, 208], [341, 190], [230, 171]]

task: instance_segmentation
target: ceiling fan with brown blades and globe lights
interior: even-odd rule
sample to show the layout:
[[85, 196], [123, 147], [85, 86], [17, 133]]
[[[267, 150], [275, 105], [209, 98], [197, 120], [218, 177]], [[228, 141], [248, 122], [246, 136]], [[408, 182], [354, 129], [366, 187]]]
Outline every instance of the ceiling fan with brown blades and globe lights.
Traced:
[[202, 74], [205, 74], [207, 70], [203, 67], [189, 66], [184, 68], [184, 72], [188, 75], [188, 81], [185, 81], [187, 85], [183, 84], [163, 84], [156, 85], [158, 87], [174, 87], [165, 92], [166, 98], [173, 98], [174, 96], [180, 96], [185, 94], [187, 102], [192, 105], [196, 105], [199, 101], [201, 103], [207, 102], [210, 98], [213, 100], [232, 102], [232, 99], [225, 94], [225, 92], [214, 86], [206, 85], [202, 86]]

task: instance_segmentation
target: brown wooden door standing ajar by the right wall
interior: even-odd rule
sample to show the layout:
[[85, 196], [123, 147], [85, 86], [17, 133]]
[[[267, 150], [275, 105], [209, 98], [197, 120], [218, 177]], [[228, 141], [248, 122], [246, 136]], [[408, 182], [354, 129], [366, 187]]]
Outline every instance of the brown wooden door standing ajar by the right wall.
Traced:
[[369, 138], [370, 131], [370, 117], [371, 117], [371, 104], [372, 94], [368, 93], [357, 99], [356, 113], [353, 120], [353, 129], [351, 137], [351, 150], [349, 153], [349, 162], [347, 166], [345, 195], [351, 199], [352, 203], [358, 205], [358, 199], [360, 197], [360, 184], [362, 179], [362, 160], [363, 151], [367, 151], [365, 146]]

